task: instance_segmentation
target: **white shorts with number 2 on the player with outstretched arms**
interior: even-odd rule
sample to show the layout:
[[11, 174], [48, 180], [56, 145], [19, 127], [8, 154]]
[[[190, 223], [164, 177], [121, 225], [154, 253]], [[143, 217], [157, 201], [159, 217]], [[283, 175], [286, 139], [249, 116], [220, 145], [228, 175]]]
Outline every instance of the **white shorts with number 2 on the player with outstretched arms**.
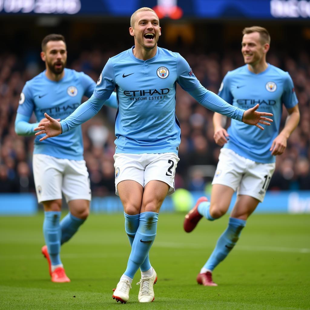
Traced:
[[124, 180], [136, 181], [143, 188], [149, 181], [162, 181], [170, 186], [168, 195], [172, 194], [175, 191], [175, 168], [179, 160], [175, 153], [115, 154], [115, 194], [119, 196], [117, 184]]

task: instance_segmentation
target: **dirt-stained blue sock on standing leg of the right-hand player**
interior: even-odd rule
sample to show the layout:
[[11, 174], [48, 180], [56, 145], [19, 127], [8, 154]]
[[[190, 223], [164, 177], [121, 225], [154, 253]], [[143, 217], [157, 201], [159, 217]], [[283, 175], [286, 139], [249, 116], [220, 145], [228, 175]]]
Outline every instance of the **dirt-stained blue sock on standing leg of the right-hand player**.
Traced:
[[243, 219], [229, 218], [228, 227], [223, 232], [216, 243], [215, 249], [211, 256], [203, 266], [213, 271], [213, 269], [228, 255], [232, 248], [236, 245], [242, 228], [246, 226]]

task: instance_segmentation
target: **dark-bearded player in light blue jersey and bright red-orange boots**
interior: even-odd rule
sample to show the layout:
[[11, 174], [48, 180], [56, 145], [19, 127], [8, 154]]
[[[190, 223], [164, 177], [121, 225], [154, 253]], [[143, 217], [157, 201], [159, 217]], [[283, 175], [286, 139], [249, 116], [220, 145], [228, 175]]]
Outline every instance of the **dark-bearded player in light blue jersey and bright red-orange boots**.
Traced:
[[[28, 81], [20, 95], [15, 120], [18, 135], [33, 135], [38, 123], [29, 123], [32, 113], [45, 122], [44, 112], [55, 118], [68, 117], [80, 104], [82, 96], [90, 97], [96, 83], [85, 73], [65, 69], [67, 50], [60, 34], [50, 34], [42, 41], [41, 58], [46, 70]], [[116, 108], [116, 94], [108, 105]], [[47, 141], [35, 139], [33, 175], [38, 202], [43, 203], [43, 234], [51, 281], [70, 282], [60, 260], [60, 246], [77, 232], [89, 214], [91, 189], [83, 160], [81, 126]], [[69, 213], [60, 222], [62, 193]]]

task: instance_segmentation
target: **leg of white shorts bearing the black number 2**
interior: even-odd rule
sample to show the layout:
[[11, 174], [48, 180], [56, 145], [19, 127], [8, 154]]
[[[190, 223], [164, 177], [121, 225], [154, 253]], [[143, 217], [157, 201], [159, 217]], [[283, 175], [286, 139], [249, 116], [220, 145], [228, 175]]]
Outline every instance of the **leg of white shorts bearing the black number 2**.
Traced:
[[179, 157], [175, 153], [144, 154], [148, 163], [144, 171], [144, 188], [150, 181], [161, 181], [169, 186], [170, 195], [175, 191], [175, 169]]

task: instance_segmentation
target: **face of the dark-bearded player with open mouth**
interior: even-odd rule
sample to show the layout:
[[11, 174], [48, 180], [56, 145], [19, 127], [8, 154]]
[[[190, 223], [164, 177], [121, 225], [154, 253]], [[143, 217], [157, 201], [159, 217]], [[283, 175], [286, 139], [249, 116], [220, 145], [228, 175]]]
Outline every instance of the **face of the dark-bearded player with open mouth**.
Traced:
[[41, 55], [47, 67], [54, 74], [61, 74], [67, 64], [67, 48], [64, 41], [49, 41], [46, 45], [45, 55]]

